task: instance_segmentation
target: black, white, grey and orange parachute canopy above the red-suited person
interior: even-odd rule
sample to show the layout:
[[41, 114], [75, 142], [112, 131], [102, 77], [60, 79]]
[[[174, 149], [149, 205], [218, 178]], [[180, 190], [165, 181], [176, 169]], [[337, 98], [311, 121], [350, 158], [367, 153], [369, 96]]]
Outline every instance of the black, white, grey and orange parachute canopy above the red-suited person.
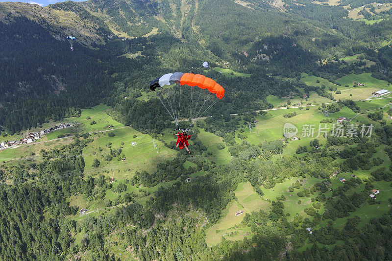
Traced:
[[189, 85], [191, 87], [199, 87], [200, 89], [207, 89], [210, 93], [216, 94], [219, 99], [224, 97], [224, 89], [221, 85], [216, 83], [211, 78], [201, 74], [174, 72], [167, 73], [160, 78], [156, 78], [150, 83], [151, 91], [155, 91], [158, 87], [165, 85], [172, 85], [174, 83], [180, 85]]

